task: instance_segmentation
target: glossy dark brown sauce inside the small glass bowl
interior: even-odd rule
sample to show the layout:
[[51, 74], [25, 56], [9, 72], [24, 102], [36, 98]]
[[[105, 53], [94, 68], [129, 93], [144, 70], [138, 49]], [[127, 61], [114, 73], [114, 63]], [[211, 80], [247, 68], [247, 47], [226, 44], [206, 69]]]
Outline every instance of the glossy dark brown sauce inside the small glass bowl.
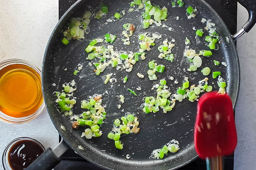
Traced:
[[30, 140], [15, 143], [8, 154], [8, 161], [13, 170], [25, 170], [44, 152], [42, 146]]

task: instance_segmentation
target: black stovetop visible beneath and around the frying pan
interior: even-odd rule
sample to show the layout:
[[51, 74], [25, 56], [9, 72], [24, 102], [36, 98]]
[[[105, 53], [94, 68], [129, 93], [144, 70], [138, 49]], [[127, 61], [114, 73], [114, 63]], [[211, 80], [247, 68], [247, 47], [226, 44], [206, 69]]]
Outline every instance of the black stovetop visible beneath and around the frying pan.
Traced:
[[[205, 0], [214, 10], [220, 15], [225, 22], [226, 26], [230, 30], [230, 33], [234, 35], [237, 28], [237, 0]], [[59, 0], [59, 18], [73, 5], [76, 0]], [[102, 170], [94, 164], [86, 161], [77, 155], [73, 150], [69, 149], [62, 155], [62, 162], [54, 168], [54, 170]], [[234, 155], [224, 158], [224, 169], [234, 169]], [[206, 170], [206, 162], [201, 159], [196, 159], [190, 164], [183, 166], [178, 170]]]

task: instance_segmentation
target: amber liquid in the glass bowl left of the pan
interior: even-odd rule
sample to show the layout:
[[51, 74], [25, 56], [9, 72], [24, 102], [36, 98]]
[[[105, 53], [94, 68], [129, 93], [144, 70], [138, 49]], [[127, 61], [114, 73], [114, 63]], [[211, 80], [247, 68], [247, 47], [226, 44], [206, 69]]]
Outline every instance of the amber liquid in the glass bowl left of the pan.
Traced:
[[33, 114], [43, 102], [41, 77], [33, 68], [13, 64], [0, 70], [0, 111], [15, 118]]

